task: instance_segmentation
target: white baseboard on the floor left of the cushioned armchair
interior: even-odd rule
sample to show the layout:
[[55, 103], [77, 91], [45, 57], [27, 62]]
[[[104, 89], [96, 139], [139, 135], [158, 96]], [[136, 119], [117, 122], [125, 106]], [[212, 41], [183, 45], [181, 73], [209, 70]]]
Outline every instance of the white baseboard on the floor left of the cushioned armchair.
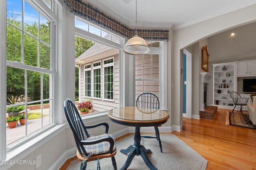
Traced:
[[62, 167], [62, 165], [70, 158], [76, 156], [76, 150], [77, 148], [71, 148], [66, 150], [61, 156], [60, 158], [58, 158], [56, 160], [56, 162], [54, 162], [54, 164], [52, 164], [52, 166], [49, 168], [49, 170], [58, 170]]

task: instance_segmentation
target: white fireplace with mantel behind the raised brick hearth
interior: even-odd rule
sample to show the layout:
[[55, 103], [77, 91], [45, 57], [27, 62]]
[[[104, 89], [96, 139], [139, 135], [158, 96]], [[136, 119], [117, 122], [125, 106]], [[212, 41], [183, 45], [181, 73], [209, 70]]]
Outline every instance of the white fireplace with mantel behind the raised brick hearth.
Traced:
[[200, 111], [210, 104], [210, 78], [212, 76], [207, 72], [200, 73]]

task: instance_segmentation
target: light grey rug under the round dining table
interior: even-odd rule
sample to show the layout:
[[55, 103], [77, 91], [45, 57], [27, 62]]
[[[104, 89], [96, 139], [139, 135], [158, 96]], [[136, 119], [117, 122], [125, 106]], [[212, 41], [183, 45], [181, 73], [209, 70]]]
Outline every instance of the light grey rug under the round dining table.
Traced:
[[[117, 169], [122, 168], [128, 154], [122, 154], [121, 149], [126, 149], [134, 143], [133, 135], [130, 135], [120, 141], [116, 142], [116, 164]], [[190, 148], [186, 143], [181, 141], [175, 135], [160, 135], [162, 141], [163, 153], [160, 152], [158, 141], [156, 139], [142, 138], [141, 144], [150, 149], [152, 152], [148, 157], [152, 164], [158, 170], [205, 170], [208, 161], [200, 154]], [[74, 160], [68, 166], [68, 170], [79, 170], [81, 162]], [[100, 160], [100, 167], [102, 170], [113, 170], [111, 158], [104, 158]], [[97, 161], [88, 162], [86, 170], [96, 170]], [[140, 156], [135, 156], [130, 164], [128, 170], [148, 170], [148, 166], [144, 163]]]

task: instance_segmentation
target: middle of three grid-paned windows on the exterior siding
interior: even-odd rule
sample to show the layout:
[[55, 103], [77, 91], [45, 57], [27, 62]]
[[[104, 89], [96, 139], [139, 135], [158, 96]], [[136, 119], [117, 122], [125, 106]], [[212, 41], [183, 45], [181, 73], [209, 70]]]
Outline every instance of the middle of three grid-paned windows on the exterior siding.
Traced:
[[101, 65], [93, 63], [93, 98], [101, 99]]

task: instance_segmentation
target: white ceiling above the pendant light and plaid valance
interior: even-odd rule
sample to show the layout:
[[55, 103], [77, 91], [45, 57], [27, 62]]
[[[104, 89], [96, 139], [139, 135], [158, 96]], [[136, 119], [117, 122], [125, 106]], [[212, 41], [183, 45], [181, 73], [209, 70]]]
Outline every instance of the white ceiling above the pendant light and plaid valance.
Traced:
[[[87, 0], [123, 23], [135, 25], [135, 0]], [[246, 6], [256, 0], [138, 0], [138, 26], [179, 29]]]

